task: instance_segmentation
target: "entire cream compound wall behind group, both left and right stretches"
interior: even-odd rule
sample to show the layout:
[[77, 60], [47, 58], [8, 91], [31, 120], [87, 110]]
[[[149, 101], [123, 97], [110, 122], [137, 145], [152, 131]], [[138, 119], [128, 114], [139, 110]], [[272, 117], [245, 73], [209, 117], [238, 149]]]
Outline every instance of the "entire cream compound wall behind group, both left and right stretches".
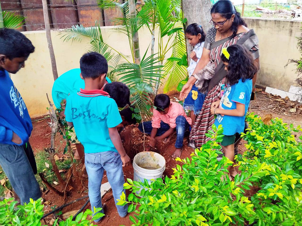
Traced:
[[[260, 62], [258, 84], [288, 91], [294, 85], [294, 65], [284, 69], [289, 58], [300, 58], [296, 37], [300, 35], [300, 22], [290, 20], [264, 20], [246, 18], [249, 28], [259, 37]], [[104, 41], [124, 55], [131, 55], [128, 37], [117, 33], [113, 27], [101, 27]], [[45, 31], [24, 32], [36, 47], [25, 62], [25, 68], [11, 75], [21, 93], [31, 117], [47, 113], [46, 93], [51, 96], [53, 75]], [[81, 42], [63, 42], [60, 31], [52, 31], [58, 74], [79, 67], [80, 57], [89, 49], [89, 39]], [[150, 44], [150, 33], [146, 28], [139, 31], [141, 55]], [[157, 39], [157, 37], [156, 37]], [[157, 48], [157, 46], [155, 46]], [[155, 48], [155, 52], [157, 49]], [[150, 51], [150, 50], [149, 50]]]

